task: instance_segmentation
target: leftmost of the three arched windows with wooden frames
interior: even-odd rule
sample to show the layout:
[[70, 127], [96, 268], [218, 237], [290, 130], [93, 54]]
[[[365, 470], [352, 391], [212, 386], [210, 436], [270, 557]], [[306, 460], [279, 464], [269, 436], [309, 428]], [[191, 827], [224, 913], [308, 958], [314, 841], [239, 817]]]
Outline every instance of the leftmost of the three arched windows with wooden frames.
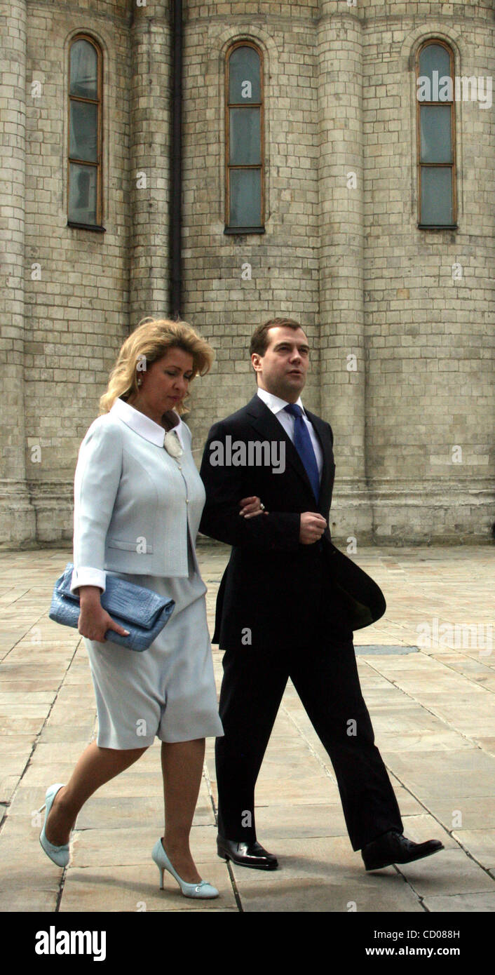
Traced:
[[68, 223], [101, 225], [101, 51], [75, 37], [69, 51]]

